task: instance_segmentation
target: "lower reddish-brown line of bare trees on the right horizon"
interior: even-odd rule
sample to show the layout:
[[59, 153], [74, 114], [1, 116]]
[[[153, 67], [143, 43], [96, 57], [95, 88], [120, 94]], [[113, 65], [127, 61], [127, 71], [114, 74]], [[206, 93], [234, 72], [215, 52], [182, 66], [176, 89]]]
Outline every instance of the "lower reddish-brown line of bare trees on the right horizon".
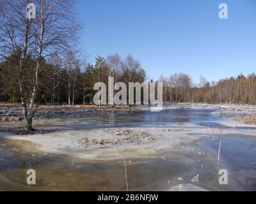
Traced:
[[200, 84], [192, 83], [189, 75], [174, 74], [160, 77], [163, 82], [163, 99], [166, 102], [189, 103], [234, 103], [256, 105], [256, 75], [224, 78], [218, 82], [207, 82], [200, 77]]

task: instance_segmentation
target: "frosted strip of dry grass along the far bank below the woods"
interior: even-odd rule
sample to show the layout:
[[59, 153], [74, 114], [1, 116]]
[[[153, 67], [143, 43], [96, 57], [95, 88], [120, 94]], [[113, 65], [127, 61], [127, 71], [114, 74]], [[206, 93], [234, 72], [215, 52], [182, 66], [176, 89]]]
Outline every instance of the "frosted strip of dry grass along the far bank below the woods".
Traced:
[[[132, 106], [132, 111], [150, 110], [148, 105]], [[256, 125], [256, 105], [232, 105], [232, 104], [209, 104], [209, 103], [166, 103], [164, 109], [176, 108], [214, 108], [218, 109], [220, 114], [228, 113], [228, 117], [232, 117], [232, 113], [238, 112], [241, 117], [234, 118], [236, 123], [243, 125]], [[19, 103], [0, 103], [0, 127], [3, 124], [8, 126], [24, 123], [21, 117], [21, 105]], [[129, 114], [129, 106], [118, 105], [115, 107], [105, 105], [42, 105], [36, 112], [33, 124], [51, 124], [52, 122], [63, 122], [67, 119], [83, 118], [84, 114], [90, 113], [124, 113]], [[255, 118], [255, 119], [253, 119]]]

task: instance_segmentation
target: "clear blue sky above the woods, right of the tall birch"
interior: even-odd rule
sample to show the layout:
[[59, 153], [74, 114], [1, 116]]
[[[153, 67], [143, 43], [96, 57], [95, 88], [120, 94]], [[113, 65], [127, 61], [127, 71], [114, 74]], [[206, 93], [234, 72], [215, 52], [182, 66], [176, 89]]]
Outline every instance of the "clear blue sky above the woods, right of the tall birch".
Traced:
[[150, 78], [182, 72], [196, 83], [256, 73], [256, 0], [77, 0], [77, 10], [90, 62], [132, 54]]

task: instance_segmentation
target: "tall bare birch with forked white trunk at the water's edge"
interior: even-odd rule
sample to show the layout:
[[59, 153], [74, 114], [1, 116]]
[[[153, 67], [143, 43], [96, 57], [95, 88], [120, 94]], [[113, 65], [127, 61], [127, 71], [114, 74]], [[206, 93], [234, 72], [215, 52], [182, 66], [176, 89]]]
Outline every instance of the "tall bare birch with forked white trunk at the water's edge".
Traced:
[[[35, 4], [35, 19], [26, 16], [29, 3]], [[15, 59], [26, 131], [33, 131], [33, 116], [45, 96], [36, 101], [42, 64], [56, 52], [65, 55], [74, 46], [80, 28], [72, 9], [74, 1], [2, 0], [0, 6], [0, 55]], [[26, 67], [29, 57], [35, 60], [31, 76]]]

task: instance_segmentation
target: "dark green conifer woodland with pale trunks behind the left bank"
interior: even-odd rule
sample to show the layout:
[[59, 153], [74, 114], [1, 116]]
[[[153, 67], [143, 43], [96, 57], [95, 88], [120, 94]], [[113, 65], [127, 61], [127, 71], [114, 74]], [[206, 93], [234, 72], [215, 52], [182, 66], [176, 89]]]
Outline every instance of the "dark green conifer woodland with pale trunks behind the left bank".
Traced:
[[[44, 99], [44, 104], [90, 104], [93, 103], [95, 92], [93, 85], [104, 82], [108, 88], [108, 77], [113, 77], [116, 82], [143, 83], [147, 80], [145, 70], [141, 68], [139, 61], [132, 55], [124, 60], [120, 55], [96, 57], [95, 64], [81, 65], [72, 55], [61, 62], [60, 57], [55, 55], [49, 62], [44, 61], [40, 69], [40, 84], [36, 100]], [[28, 78], [33, 76], [35, 62], [29, 59], [26, 70]], [[12, 56], [0, 64], [0, 99], [1, 101], [20, 102], [19, 79], [14, 73]], [[31, 70], [30, 70], [31, 68]], [[31, 80], [27, 80], [27, 86], [31, 87]], [[33, 82], [32, 82], [33, 83]], [[26, 89], [29, 90], [29, 89]], [[28, 93], [29, 94], [29, 93]]]

